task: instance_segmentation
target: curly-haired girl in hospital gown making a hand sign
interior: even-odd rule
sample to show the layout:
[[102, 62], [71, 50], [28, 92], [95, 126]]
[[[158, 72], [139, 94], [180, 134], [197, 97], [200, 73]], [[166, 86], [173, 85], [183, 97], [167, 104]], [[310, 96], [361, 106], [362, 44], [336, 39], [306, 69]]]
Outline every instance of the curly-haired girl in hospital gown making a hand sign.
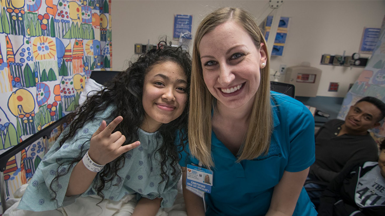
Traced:
[[190, 71], [189, 53], [181, 48], [152, 49], [130, 63], [79, 107], [18, 208], [54, 210], [92, 197], [106, 215], [104, 200], [130, 194], [138, 200], [132, 215], [171, 207], [181, 176], [175, 135], [186, 128]]

